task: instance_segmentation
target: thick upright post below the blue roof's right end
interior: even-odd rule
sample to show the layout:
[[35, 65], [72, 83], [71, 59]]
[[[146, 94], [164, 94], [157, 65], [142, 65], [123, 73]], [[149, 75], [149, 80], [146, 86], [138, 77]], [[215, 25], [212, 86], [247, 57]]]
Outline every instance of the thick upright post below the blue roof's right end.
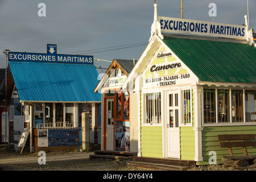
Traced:
[[90, 120], [89, 112], [82, 113], [82, 149], [86, 150], [90, 147]]

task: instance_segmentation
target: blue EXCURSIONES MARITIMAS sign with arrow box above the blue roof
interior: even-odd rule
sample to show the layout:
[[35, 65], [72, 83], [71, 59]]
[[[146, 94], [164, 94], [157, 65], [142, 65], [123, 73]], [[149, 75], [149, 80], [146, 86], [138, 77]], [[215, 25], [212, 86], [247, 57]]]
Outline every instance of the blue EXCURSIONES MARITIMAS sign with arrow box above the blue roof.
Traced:
[[47, 53], [9, 52], [9, 61], [93, 64], [93, 56], [58, 55], [56, 44], [47, 44]]

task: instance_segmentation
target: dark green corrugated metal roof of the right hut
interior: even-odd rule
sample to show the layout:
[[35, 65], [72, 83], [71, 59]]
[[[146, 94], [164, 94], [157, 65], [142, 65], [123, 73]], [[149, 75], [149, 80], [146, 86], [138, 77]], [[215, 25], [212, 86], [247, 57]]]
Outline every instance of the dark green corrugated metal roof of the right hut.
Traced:
[[164, 37], [200, 81], [256, 83], [256, 48], [245, 43]]

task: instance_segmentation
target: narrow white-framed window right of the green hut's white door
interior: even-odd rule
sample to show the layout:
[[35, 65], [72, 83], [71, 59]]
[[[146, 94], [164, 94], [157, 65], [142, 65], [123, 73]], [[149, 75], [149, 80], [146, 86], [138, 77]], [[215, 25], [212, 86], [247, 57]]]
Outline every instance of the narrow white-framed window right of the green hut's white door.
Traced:
[[181, 123], [184, 125], [187, 123], [192, 123], [191, 117], [191, 90], [181, 90], [181, 101], [182, 101], [182, 113], [181, 113]]

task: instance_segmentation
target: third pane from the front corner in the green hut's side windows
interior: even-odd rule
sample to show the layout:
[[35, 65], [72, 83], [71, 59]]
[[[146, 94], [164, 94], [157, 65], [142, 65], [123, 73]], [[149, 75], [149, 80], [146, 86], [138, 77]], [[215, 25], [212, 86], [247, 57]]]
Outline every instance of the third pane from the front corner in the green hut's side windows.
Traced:
[[232, 122], [243, 122], [243, 90], [232, 90]]

